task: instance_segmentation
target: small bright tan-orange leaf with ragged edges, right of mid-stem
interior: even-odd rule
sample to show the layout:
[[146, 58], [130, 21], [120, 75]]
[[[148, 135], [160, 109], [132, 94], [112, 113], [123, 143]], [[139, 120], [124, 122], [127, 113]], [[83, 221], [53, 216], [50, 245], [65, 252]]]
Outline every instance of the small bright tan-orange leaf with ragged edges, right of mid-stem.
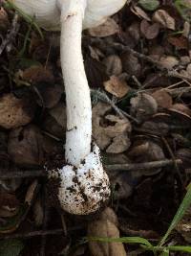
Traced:
[[117, 98], [124, 97], [130, 90], [126, 81], [119, 80], [116, 76], [112, 76], [109, 81], [104, 81], [105, 90], [115, 95]]

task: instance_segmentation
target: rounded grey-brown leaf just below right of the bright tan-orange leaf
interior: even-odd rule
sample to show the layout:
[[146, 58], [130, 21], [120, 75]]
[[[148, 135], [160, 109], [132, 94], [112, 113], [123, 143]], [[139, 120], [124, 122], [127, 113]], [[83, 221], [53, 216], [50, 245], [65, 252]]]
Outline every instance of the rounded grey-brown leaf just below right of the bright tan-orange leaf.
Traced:
[[131, 113], [136, 116], [140, 122], [146, 120], [151, 115], [156, 114], [158, 111], [156, 100], [146, 93], [138, 93], [138, 96], [132, 98], [130, 103]]

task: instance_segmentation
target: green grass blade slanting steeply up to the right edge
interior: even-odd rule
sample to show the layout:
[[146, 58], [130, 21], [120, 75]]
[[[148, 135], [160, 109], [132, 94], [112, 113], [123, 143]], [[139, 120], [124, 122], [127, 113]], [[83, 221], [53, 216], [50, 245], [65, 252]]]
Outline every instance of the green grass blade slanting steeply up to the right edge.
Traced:
[[180, 207], [175, 217], [173, 218], [173, 221], [171, 222], [166, 234], [163, 236], [162, 240], [160, 241], [159, 246], [165, 243], [166, 239], [168, 238], [172, 230], [176, 227], [176, 225], [179, 223], [185, 211], [188, 209], [190, 205], [191, 205], [191, 184], [188, 186], [188, 191], [185, 197], [183, 198], [183, 200], [181, 201]]

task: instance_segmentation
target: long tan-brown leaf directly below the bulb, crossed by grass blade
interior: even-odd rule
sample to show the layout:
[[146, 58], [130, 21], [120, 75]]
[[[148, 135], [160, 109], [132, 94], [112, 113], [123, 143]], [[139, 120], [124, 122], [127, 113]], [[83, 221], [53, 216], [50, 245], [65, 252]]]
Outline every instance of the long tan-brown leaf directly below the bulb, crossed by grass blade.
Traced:
[[[111, 216], [110, 216], [111, 215]], [[88, 225], [89, 237], [119, 238], [115, 212], [110, 209], [103, 212], [98, 221], [92, 221]], [[113, 222], [115, 221], [115, 222]], [[122, 243], [89, 242], [89, 248], [93, 256], [126, 256]]]

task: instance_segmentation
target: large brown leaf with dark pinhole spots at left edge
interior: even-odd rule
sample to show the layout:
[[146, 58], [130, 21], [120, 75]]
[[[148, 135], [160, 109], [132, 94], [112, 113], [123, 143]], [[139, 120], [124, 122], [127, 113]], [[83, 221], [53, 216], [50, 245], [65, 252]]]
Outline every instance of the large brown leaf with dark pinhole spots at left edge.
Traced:
[[0, 127], [18, 128], [32, 121], [35, 107], [29, 99], [17, 99], [13, 94], [0, 98]]

